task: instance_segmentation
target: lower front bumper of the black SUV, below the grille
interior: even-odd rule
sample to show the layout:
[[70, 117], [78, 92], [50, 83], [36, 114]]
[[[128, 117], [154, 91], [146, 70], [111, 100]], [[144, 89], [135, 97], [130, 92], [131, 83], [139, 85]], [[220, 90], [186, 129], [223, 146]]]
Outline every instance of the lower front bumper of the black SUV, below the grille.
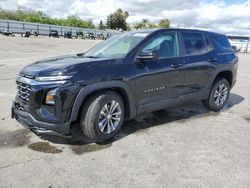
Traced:
[[31, 114], [18, 109], [15, 102], [12, 104], [11, 117], [15, 118], [21, 125], [36, 134], [56, 135], [70, 137], [70, 122], [53, 124], [36, 120]]

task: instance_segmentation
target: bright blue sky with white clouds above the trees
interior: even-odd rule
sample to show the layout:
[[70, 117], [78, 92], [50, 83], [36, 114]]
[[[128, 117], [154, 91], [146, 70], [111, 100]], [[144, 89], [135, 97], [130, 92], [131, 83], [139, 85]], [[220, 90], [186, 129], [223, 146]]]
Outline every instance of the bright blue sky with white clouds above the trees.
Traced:
[[133, 24], [148, 18], [168, 18], [172, 27], [200, 28], [250, 36], [250, 0], [0, 0], [0, 7], [24, 6], [52, 17], [77, 14], [95, 24], [118, 8], [130, 13]]

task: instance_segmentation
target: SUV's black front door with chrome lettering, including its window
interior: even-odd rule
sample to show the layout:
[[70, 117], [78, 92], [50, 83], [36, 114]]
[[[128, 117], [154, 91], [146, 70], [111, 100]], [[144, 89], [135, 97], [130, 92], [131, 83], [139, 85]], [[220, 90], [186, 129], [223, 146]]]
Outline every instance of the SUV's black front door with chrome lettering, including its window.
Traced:
[[141, 54], [147, 52], [157, 54], [158, 58], [146, 60], [142, 68], [138, 67], [136, 104], [141, 110], [149, 106], [156, 110], [167, 106], [182, 92], [184, 77], [180, 69], [184, 58], [179, 56], [178, 33], [165, 32], [155, 36], [143, 47]]

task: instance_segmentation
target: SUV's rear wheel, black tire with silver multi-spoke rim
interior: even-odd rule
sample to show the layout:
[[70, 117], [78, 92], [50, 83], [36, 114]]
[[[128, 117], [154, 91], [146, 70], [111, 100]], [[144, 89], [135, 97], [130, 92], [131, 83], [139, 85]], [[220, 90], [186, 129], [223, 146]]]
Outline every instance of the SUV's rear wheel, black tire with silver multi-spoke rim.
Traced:
[[209, 98], [203, 101], [204, 106], [211, 111], [220, 111], [227, 103], [230, 94], [230, 84], [225, 78], [217, 78], [210, 91]]

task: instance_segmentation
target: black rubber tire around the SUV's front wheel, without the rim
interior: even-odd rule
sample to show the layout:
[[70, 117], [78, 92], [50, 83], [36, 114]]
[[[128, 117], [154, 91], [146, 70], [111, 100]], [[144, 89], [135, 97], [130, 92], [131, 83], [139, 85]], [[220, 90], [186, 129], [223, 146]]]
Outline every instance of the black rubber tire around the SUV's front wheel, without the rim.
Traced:
[[[120, 122], [110, 134], [104, 134], [99, 128], [99, 117], [103, 107], [110, 101], [117, 101], [120, 105]], [[124, 102], [121, 96], [112, 91], [102, 92], [90, 97], [83, 107], [80, 125], [83, 133], [94, 142], [104, 142], [113, 138], [120, 130], [124, 121]]]

